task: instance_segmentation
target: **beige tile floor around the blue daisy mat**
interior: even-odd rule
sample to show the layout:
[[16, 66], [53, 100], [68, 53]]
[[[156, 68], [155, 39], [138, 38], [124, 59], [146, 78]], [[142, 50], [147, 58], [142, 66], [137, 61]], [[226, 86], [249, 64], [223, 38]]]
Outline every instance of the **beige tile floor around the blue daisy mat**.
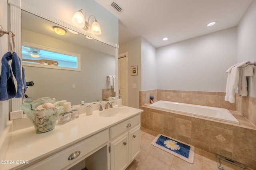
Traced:
[[[151, 144], [156, 132], [141, 128], [141, 152], [126, 170], [219, 170], [215, 154], [195, 148], [194, 164], [190, 164]], [[171, 136], [170, 136], [171, 137]], [[224, 170], [243, 170], [228, 162], [221, 162]]]

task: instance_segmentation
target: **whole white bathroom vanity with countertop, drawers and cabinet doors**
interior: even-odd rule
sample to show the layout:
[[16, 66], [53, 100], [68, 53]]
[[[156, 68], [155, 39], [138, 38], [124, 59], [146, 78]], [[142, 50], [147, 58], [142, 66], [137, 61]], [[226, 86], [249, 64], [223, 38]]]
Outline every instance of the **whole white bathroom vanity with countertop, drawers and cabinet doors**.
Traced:
[[108, 110], [80, 114], [42, 134], [32, 126], [14, 130], [4, 158], [8, 164], [1, 168], [69, 169], [88, 158], [88, 170], [125, 169], [140, 152], [142, 110], [126, 106]]

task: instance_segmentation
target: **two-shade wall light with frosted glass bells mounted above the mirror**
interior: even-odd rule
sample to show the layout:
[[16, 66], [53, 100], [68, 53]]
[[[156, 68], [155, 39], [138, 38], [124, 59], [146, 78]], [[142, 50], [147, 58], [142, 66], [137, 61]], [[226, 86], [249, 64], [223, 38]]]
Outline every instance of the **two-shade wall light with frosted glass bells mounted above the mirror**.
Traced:
[[78, 12], [76, 12], [72, 18], [72, 22], [75, 26], [79, 27], [79, 28], [83, 28], [84, 30], [88, 30], [90, 28], [89, 25], [89, 20], [91, 17], [94, 17], [94, 20], [92, 22], [92, 26], [91, 26], [91, 33], [94, 35], [100, 35], [101, 34], [101, 28], [100, 28], [100, 24], [97, 22], [95, 16], [91, 15], [88, 18], [88, 22], [85, 21], [84, 19], [84, 10], [78, 10]]

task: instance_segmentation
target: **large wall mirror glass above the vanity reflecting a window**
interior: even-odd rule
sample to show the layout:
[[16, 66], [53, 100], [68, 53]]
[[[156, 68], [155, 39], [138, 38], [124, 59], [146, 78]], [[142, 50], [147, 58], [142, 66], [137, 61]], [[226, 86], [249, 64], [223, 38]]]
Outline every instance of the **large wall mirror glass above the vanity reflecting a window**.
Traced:
[[[22, 65], [26, 81], [34, 82], [33, 86], [28, 86], [26, 95], [32, 99], [51, 97], [58, 101], [66, 100], [72, 105], [79, 105], [81, 101], [92, 103], [114, 97], [115, 89], [107, 76], [116, 74], [115, 47], [82, 34], [74, 34], [76, 32], [72, 33], [67, 28], [64, 28], [65, 35], [58, 35], [54, 32], [54, 26], [64, 28], [22, 10], [22, 45], [27, 45], [22, 50]], [[59, 63], [60, 60], [65, 60], [64, 57], [56, 59], [45, 51], [40, 53], [40, 49], [43, 51], [45, 48], [57, 53], [79, 55], [80, 70], [25, 63], [26, 59], [47, 58]]]

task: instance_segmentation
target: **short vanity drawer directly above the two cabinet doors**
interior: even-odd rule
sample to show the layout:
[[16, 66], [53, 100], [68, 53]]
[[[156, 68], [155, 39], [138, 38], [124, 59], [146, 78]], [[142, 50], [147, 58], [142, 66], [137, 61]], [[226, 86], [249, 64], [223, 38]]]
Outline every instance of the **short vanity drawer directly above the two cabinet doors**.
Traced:
[[140, 123], [140, 114], [110, 128], [110, 140]]

